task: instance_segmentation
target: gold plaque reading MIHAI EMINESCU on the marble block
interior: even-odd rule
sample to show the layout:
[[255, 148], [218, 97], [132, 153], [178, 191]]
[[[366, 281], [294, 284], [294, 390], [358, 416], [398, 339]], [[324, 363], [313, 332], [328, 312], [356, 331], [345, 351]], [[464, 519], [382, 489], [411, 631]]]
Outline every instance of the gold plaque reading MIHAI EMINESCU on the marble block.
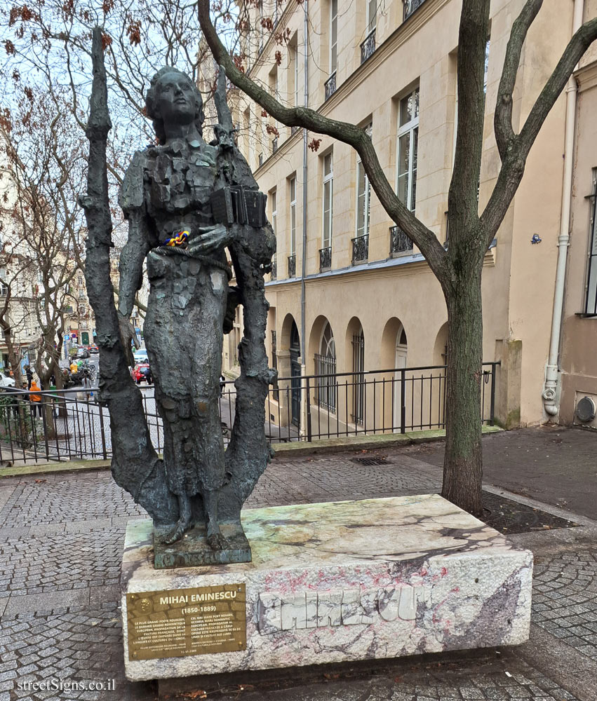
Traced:
[[229, 653], [247, 646], [244, 584], [126, 594], [128, 659]]

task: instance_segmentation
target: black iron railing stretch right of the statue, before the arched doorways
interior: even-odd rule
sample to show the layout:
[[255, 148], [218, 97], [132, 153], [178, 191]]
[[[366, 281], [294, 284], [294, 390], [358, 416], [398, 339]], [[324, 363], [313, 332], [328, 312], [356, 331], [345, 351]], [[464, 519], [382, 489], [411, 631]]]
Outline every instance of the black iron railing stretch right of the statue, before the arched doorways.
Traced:
[[[279, 378], [276, 390], [269, 390], [265, 431], [271, 442], [445, 428], [445, 365], [337, 373], [334, 359], [321, 358], [316, 356], [316, 368], [330, 362], [330, 372]], [[482, 419], [490, 426], [498, 366], [483, 363], [481, 376]], [[233, 383], [227, 383], [222, 393], [222, 407], [229, 412], [222, 413], [222, 422], [227, 426], [234, 420], [234, 392]], [[300, 395], [302, 431], [293, 425], [293, 393]]]

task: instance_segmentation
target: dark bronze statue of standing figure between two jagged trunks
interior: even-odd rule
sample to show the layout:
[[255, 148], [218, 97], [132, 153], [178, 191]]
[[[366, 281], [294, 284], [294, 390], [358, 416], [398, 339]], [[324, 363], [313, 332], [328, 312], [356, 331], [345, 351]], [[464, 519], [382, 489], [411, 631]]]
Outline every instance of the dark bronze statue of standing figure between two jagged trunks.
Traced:
[[[94, 288], [90, 300], [101, 349], [100, 401], [111, 418], [112, 472], [154, 518], [156, 566], [250, 559], [240, 510], [269, 461], [264, 399], [274, 379], [263, 343], [263, 275], [275, 250], [265, 197], [234, 144], [223, 70], [216, 99], [220, 123], [215, 140], [206, 144], [199, 90], [176, 69], [161, 69], [147, 92], [147, 114], [158, 144], [134, 154], [121, 187], [129, 233], [119, 265], [116, 339], [113, 310], [102, 299], [97, 280], [91, 280], [105, 265], [100, 256], [109, 245], [100, 226], [105, 219], [98, 217], [98, 211], [106, 216], [105, 205], [95, 207], [105, 194], [94, 192], [98, 184], [93, 180], [93, 147], [107, 134], [101, 104], [105, 75], [103, 66], [98, 68], [96, 41], [94, 32], [90, 174], [88, 196], [81, 200], [89, 228], [86, 275]], [[103, 118], [109, 120], [107, 108]], [[232, 269], [226, 248], [239, 287], [229, 286]], [[147, 427], [140, 428], [140, 399], [133, 394], [138, 390], [132, 380], [123, 379], [130, 353], [128, 318], [146, 259], [150, 291], [145, 339], [163, 419], [163, 460], [151, 446]], [[239, 348], [236, 418], [224, 451], [218, 411], [222, 336], [232, 328], [239, 303], [246, 337]], [[122, 426], [125, 416], [128, 425]], [[131, 433], [130, 421], [141, 435]], [[188, 538], [181, 538], [185, 533]]]

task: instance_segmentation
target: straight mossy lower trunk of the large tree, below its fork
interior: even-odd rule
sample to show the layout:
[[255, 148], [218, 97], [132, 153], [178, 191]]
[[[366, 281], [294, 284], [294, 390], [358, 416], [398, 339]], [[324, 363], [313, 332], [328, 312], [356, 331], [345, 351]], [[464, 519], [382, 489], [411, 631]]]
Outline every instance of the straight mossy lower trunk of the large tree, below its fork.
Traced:
[[[474, 268], [478, 268], [475, 270]], [[481, 377], [483, 376], [483, 264], [462, 268], [445, 294], [448, 306], [448, 358], [445, 396], [445, 455], [442, 496], [481, 516], [483, 453]]]

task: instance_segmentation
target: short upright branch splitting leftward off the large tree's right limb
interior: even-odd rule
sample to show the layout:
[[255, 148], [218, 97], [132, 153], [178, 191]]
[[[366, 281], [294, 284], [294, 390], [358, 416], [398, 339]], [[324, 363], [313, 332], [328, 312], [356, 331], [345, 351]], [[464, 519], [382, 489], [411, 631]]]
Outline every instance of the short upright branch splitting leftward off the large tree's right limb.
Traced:
[[514, 129], [512, 128], [512, 93], [516, 84], [516, 74], [521, 62], [523, 43], [530, 25], [537, 17], [541, 9], [543, 0], [527, 0], [521, 14], [514, 20], [510, 32], [510, 39], [504, 57], [504, 68], [502, 78], [497, 89], [497, 102], [495, 104], [495, 115], [493, 118], [493, 128], [495, 130], [495, 140], [497, 150], [502, 162], [506, 158], [509, 145], [514, 141]]

